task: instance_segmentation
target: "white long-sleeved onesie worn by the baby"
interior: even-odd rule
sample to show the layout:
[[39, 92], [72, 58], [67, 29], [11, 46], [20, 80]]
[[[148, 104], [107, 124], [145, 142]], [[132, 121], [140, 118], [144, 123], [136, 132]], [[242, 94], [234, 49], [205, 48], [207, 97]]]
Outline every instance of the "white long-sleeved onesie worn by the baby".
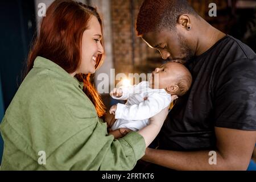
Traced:
[[117, 121], [112, 130], [128, 128], [138, 131], [148, 125], [149, 118], [171, 104], [171, 94], [164, 89], [151, 89], [148, 85], [147, 81], [142, 81], [138, 85], [121, 86], [122, 96], [112, 96], [117, 100], [127, 100], [126, 104], [117, 104]]

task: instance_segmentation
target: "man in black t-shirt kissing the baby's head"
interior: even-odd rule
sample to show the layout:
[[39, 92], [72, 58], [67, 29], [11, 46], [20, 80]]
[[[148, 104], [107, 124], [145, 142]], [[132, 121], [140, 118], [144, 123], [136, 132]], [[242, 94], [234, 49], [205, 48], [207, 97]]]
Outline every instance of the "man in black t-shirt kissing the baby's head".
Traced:
[[158, 149], [147, 148], [142, 159], [177, 170], [246, 170], [256, 142], [255, 53], [184, 0], [144, 1], [136, 29], [193, 77], [168, 114]]

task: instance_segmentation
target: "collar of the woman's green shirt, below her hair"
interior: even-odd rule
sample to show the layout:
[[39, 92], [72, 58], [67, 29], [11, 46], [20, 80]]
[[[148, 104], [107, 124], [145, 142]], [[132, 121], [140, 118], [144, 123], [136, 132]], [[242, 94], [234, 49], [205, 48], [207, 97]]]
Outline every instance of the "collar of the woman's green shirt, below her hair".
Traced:
[[68, 72], [66, 72], [59, 65], [53, 63], [51, 60], [48, 60], [44, 57], [41, 57], [41, 56], [36, 57], [33, 68], [50, 69], [51, 71], [56, 72], [57, 74], [60, 74], [61, 76], [67, 77], [68, 80], [73, 82], [76, 86], [79, 86], [80, 89], [82, 89], [84, 86], [84, 82], [78, 81], [76, 77], [72, 77], [71, 75], [69, 75]]

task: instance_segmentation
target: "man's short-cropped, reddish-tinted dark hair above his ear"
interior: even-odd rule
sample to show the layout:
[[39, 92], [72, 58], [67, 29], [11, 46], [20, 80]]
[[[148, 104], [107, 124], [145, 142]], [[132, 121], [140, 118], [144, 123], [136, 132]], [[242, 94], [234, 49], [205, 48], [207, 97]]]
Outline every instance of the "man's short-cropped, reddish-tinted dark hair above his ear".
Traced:
[[185, 0], [145, 0], [137, 17], [138, 36], [163, 28], [172, 30], [180, 15], [199, 16]]

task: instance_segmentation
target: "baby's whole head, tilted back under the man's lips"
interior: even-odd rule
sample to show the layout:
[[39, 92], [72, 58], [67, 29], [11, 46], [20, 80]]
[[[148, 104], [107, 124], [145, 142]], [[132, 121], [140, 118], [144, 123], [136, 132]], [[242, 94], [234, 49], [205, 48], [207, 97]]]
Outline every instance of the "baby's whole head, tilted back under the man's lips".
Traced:
[[165, 89], [172, 95], [183, 96], [191, 86], [192, 76], [183, 64], [168, 62], [152, 72], [149, 82], [150, 88]]

